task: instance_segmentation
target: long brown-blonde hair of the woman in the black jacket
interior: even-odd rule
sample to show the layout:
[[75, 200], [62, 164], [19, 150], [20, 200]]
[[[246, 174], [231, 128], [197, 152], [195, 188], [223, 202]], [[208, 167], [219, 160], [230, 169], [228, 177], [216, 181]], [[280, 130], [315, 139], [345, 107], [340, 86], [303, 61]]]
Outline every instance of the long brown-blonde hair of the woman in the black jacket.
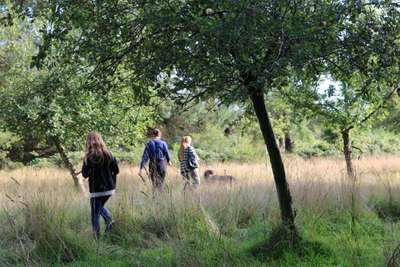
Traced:
[[86, 139], [85, 161], [100, 160], [104, 162], [110, 161], [112, 158], [111, 152], [108, 150], [101, 135], [97, 132], [90, 132]]

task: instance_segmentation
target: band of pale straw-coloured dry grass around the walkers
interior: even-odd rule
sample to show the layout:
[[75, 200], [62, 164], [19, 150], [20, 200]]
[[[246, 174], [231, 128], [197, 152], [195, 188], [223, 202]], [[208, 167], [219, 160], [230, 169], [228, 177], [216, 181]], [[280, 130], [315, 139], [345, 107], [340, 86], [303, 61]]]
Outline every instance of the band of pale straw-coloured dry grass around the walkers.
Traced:
[[[354, 161], [357, 171], [361, 199], [399, 195], [400, 157], [366, 157]], [[344, 162], [340, 158], [315, 158], [304, 160], [298, 157], [285, 158], [285, 165], [293, 199], [297, 208], [323, 211], [346, 205], [346, 192], [350, 183], [345, 175]], [[269, 165], [216, 163], [202, 166], [200, 172], [213, 169], [217, 174], [229, 174], [237, 178], [228, 184], [202, 184], [200, 194], [207, 207], [219, 207], [232, 201], [235, 194], [243, 201], [266, 206], [276, 199], [273, 177]], [[133, 206], [143, 206], [151, 194], [150, 184], [143, 184], [136, 175], [137, 167], [124, 165], [118, 179], [118, 194], [114, 202], [129, 200]], [[13, 179], [14, 178], [14, 179]], [[20, 185], [18, 185], [19, 183]], [[183, 183], [178, 170], [170, 168], [167, 191], [174, 201], [182, 201]], [[12, 171], [0, 171], [0, 206], [13, 205], [12, 199], [30, 202], [42, 196], [53, 202], [62, 201], [81, 206], [87, 203], [74, 192], [71, 178], [66, 170], [57, 168], [25, 167]], [[14, 203], [15, 204], [15, 203]]]

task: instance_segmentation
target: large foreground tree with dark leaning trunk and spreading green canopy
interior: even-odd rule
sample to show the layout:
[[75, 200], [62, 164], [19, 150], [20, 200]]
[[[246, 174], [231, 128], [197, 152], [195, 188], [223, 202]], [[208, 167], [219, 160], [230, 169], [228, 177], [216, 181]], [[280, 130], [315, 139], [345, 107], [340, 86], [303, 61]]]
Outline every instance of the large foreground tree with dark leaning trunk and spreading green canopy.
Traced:
[[[366, 17], [361, 1], [49, 3], [51, 12], [43, 11], [52, 26], [46, 40], [73, 48], [61, 52], [61, 59], [92, 63], [91, 82], [126, 68], [133, 70], [131, 80], [154, 85], [156, 95], [182, 105], [206, 98], [250, 101], [269, 153], [282, 225], [297, 236], [265, 94], [293, 79], [299, 84], [318, 79], [330, 56], [345, 51], [340, 46], [346, 24]], [[354, 27], [363, 30], [367, 22]], [[366, 44], [351, 44], [358, 45]], [[39, 55], [46, 54], [47, 46], [41, 48]], [[107, 90], [106, 83], [98, 84]]]

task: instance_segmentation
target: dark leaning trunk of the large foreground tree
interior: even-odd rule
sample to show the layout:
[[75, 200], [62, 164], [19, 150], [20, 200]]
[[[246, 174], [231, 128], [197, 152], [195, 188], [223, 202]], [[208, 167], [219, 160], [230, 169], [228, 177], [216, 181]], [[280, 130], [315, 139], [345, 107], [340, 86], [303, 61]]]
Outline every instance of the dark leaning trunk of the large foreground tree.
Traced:
[[295, 215], [292, 208], [292, 196], [290, 194], [289, 184], [286, 180], [285, 168], [281, 154], [276, 144], [275, 135], [265, 106], [264, 93], [262, 90], [256, 88], [252, 88], [249, 92], [264, 137], [264, 142], [267, 146], [278, 193], [283, 226], [286, 230], [289, 230], [292, 235], [297, 236], [296, 226], [294, 223]]

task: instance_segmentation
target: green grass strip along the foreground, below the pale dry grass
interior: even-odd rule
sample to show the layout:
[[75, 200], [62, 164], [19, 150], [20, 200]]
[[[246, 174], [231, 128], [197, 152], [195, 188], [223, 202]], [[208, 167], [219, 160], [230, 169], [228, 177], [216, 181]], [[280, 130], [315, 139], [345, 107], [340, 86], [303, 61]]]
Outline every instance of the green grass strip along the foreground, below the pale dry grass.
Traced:
[[385, 242], [400, 238], [399, 225], [389, 227], [375, 213], [361, 214], [354, 236], [349, 213], [320, 216], [302, 210], [301, 239], [291, 244], [281, 238], [272, 215], [252, 214], [247, 223], [241, 218], [232, 226], [215, 221], [215, 214], [193, 199], [185, 206], [151, 201], [146, 212], [114, 203], [115, 227], [97, 242], [88, 222], [76, 227], [77, 211], [68, 205], [37, 197], [26, 206], [3, 209], [0, 265], [382, 266]]

